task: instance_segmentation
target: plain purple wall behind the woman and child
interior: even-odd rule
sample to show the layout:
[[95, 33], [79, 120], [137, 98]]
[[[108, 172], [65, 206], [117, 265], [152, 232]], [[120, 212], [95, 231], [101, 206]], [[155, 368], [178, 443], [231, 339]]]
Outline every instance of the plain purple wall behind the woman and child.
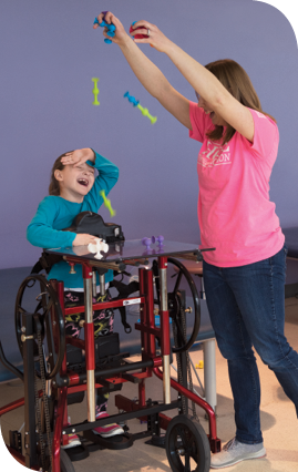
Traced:
[[[110, 3], [110, 2], [109, 2]], [[284, 226], [298, 225], [297, 41], [288, 19], [258, 0], [114, 0], [126, 29], [156, 23], [203, 64], [232, 58], [250, 75], [263, 107], [279, 125], [279, 157], [270, 196]], [[197, 242], [196, 158], [199, 144], [137, 82], [115, 45], [92, 23], [103, 2], [1, 0], [1, 257], [0, 268], [30, 266], [40, 255], [25, 228], [48, 193], [53, 161], [92, 146], [120, 167], [110, 194], [126, 238], [163, 234]], [[171, 83], [195, 100], [171, 61], [141, 45]], [[93, 76], [100, 106], [92, 105]], [[123, 93], [136, 96], [157, 122], [151, 125]], [[104, 219], [110, 220], [103, 207]]]

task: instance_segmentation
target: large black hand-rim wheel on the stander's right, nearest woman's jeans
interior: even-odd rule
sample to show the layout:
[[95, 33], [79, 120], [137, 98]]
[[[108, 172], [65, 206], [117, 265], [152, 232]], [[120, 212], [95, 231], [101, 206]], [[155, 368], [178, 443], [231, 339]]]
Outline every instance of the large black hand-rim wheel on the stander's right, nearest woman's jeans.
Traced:
[[[179, 317], [177, 316], [177, 314], [181, 310], [179, 290], [182, 287], [187, 287], [187, 289], [191, 289], [192, 304], [194, 307], [193, 309], [194, 324], [193, 324], [193, 331], [189, 338], [185, 340], [183, 346], [172, 346], [173, 352], [183, 352], [191, 349], [193, 343], [196, 341], [196, 338], [199, 331], [199, 324], [201, 324], [199, 296], [198, 296], [195, 283], [193, 280], [193, 277], [191, 276], [186, 267], [184, 267], [184, 265], [179, 260], [168, 257], [167, 258], [168, 269], [171, 269], [171, 264], [178, 268], [178, 273], [175, 276], [176, 279], [175, 279], [175, 286], [173, 290], [172, 291], [168, 290], [168, 294], [167, 294], [168, 311], [169, 311], [171, 318], [177, 325], [177, 330], [178, 330], [178, 334], [181, 335], [181, 339], [184, 337], [183, 326], [179, 322]], [[158, 264], [156, 260], [153, 261], [153, 273], [155, 277], [157, 276], [157, 278], [155, 278], [155, 285], [156, 285], [156, 291], [158, 297], [157, 302], [160, 304]]]

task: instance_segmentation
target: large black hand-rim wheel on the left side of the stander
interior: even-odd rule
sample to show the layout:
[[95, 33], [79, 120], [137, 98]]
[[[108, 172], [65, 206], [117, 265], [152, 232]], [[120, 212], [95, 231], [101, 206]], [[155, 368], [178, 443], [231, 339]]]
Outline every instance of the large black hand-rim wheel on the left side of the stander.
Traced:
[[[34, 331], [39, 327], [43, 342], [44, 363], [45, 359], [51, 365], [50, 372], [47, 371], [45, 379], [53, 378], [59, 370], [65, 352], [65, 327], [62, 309], [55, 290], [42, 275], [30, 275], [27, 277], [18, 291], [14, 309], [16, 335], [20, 352], [23, 355], [22, 316], [32, 314]], [[53, 335], [55, 332], [55, 338]], [[34, 336], [34, 355], [38, 355], [37, 336]]]

